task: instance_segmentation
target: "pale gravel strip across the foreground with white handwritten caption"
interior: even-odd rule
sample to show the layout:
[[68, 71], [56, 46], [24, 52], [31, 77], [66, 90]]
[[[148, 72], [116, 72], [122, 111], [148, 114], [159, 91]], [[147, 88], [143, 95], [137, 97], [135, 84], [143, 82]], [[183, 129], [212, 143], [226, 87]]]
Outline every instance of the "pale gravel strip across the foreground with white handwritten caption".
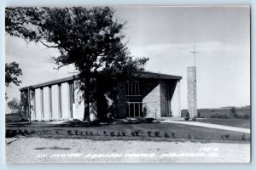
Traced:
[[6, 139], [6, 161], [8, 163], [249, 162], [250, 144], [12, 138]]

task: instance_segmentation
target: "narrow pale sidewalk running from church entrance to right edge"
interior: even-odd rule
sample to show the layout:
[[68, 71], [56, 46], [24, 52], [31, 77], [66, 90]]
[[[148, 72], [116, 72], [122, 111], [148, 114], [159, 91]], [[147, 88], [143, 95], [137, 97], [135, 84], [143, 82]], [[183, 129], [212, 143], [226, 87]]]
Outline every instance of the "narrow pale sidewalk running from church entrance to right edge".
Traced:
[[171, 123], [180, 123], [185, 125], [191, 125], [191, 126], [198, 126], [198, 127], [209, 127], [209, 128], [217, 128], [222, 130], [229, 130], [229, 131], [235, 131], [239, 133], [251, 133], [251, 129], [249, 128], [241, 128], [241, 127], [229, 127], [224, 125], [217, 125], [217, 124], [211, 124], [211, 123], [205, 123], [205, 122], [182, 122], [182, 121], [175, 121], [175, 120], [164, 120], [161, 122], [171, 122]]

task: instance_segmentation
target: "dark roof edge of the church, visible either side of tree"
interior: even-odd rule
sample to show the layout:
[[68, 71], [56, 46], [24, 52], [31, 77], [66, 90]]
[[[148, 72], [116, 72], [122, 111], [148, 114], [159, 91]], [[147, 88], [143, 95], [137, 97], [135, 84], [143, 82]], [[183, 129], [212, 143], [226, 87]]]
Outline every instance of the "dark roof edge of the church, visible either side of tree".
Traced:
[[[167, 75], [167, 74], [161, 74], [161, 73], [155, 73], [155, 72], [149, 72], [149, 71], [144, 71], [143, 75], [141, 76], [142, 78], [152, 78], [152, 79], [166, 79], [166, 80], [180, 80], [182, 77], [178, 76], [173, 76], [173, 75]], [[26, 90], [27, 88], [44, 88], [44, 87], [49, 87], [49, 86], [54, 86], [56, 84], [64, 83], [64, 82], [71, 82], [74, 80], [78, 80], [79, 76], [78, 75], [73, 75], [72, 77], [65, 77], [61, 79], [55, 79], [53, 81], [49, 82], [43, 82], [43, 83], [38, 83], [32, 86], [27, 86], [20, 88], [20, 91]]]

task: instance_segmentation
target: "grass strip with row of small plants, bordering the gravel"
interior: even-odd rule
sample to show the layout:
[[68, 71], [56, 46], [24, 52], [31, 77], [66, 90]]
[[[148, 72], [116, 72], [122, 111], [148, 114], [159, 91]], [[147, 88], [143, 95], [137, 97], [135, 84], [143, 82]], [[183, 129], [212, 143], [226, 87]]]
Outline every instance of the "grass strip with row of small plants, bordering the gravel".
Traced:
[[[19, 135], [42, 138], [95, 140], [150, 140], [249, 143], [250, 134], [177, 123], [107, 124], [94, 127], [54, 125], [33, 122], [23, 126], [7, 125], [6, 130], [19, 130]], [[150, 134], [149, 134], [150, 133]]]

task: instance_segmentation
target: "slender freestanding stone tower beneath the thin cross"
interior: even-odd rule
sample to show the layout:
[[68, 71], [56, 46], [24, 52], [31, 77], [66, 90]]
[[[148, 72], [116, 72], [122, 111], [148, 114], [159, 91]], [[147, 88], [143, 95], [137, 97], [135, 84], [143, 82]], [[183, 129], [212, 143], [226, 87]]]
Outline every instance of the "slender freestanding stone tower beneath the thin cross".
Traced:
[[189, 116], [197, 115], [197, 99], [196, 99], [196, 67], [190, 66], [187, 68], [187, 88], [188, 88], [188, 111]]

